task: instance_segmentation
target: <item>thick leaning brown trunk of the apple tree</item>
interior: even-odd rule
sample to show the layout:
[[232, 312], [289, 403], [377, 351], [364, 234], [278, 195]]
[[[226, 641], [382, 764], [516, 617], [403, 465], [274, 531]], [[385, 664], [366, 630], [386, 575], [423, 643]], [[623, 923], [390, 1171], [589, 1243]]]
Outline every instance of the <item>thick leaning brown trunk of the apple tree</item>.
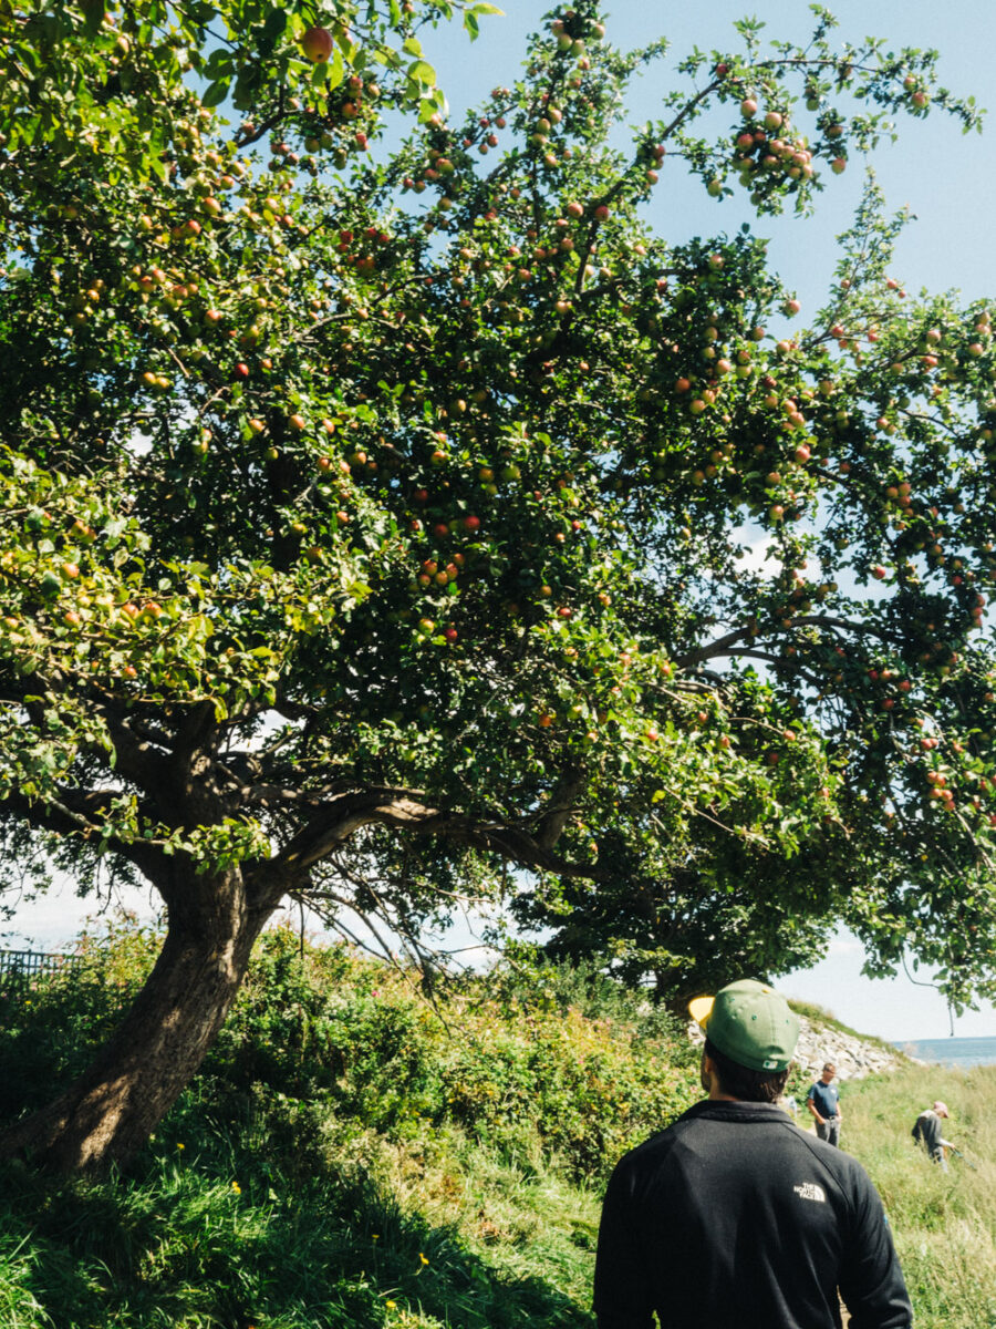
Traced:
[[0, 1135], [0, 1158], [28, 1156], [66, 1174], [126, 1163], [197, 1073], [270, 910], [248, 909], [238, 872], [186, 885], [121, 1026], [69, 1088]]

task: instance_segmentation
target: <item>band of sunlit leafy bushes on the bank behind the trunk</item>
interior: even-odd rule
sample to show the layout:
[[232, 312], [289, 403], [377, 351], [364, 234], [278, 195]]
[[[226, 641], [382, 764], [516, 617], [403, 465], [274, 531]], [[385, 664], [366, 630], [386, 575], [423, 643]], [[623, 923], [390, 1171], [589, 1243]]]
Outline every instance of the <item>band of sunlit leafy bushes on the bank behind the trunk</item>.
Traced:
[[[0, 1119], [82, 1069], [154, 962], [157, 938], [114, 924], [84, 937], [80, 964], [8, 1001]], [[187, 1100], [219, 1122], [280, 1096], [357, 1130], [412, 1139], [456, 1124], [510, 1162], [554, 1159], [576, 1179], [684, 1111], [695, 1055], [671, 1017], [590, 969], [498, 968], [445, 982], [345, 945], [301, 945], [282, 928], [258, 942], [247, 979]]]

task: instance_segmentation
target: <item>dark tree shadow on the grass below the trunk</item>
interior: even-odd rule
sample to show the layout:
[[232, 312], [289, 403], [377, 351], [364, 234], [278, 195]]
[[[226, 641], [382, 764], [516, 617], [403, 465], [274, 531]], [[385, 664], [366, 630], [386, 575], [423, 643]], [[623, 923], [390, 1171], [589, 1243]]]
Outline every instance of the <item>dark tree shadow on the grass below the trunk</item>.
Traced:
[[141, 1179], [53, 1185], [5, 1168], [0, 1305], [32, 1296], [48, 1317], [25, 1320], [32, 1329], [592, 1324], [564, 1293], [490, 1267], [359, 1172], [299, 1180], [283, 1195], [282, 1181], [256, 1176], [236, 1189], [150, 1164]]

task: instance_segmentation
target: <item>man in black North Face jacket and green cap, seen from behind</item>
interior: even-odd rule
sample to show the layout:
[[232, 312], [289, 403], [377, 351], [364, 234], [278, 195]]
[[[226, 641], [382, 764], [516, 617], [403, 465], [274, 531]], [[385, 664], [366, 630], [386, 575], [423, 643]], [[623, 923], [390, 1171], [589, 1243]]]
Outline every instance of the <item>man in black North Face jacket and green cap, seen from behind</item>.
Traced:
[[742, 979], [692, 1002], [708, 1098], [627, 1154], [606, 1193], [599, 1329], [908, 1329], [888, 1221], [855, 1159], [798, 1130], [785, 1088], [798, 1019]]

